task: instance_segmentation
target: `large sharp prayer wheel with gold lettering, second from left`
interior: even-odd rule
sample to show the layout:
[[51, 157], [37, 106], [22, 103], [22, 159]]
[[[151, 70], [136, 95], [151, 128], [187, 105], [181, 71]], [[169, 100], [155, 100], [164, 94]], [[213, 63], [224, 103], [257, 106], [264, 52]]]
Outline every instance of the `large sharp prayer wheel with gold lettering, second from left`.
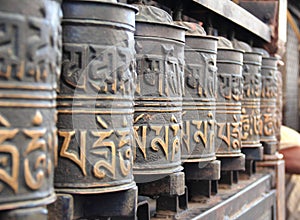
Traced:
[[137, 9], [85, 0], [66, 0], [62, 8], [56, 190], [131, 189]]

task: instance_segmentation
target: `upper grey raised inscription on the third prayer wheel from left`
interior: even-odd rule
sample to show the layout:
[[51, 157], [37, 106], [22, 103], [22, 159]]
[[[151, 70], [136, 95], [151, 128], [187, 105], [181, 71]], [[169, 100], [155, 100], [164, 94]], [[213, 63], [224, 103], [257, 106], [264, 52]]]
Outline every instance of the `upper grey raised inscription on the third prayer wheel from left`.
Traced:
[[[142, 52], [138, 45], [140, 44], [137, 42], [137, 52]], [[137, 54], [138, 78], [135, 94], [137, 97], [150, 95], [181, 97], [183, 61], [173, 55], [174, 46], [162, 44], [161, 52], [164, 54], [163, 56]]]

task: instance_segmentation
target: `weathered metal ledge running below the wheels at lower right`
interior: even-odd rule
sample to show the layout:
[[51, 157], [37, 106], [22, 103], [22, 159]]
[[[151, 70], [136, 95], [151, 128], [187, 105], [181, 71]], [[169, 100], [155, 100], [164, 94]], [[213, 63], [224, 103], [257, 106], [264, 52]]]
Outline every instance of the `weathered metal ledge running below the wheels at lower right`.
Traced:
[[188, 209], [174, 219], [274, 219], [276, 191], [271, 189], [270, 179], [271, 174], [259, 173], [231, 187], [219, 187], [217, 195], [205, 202], [189, 202]]

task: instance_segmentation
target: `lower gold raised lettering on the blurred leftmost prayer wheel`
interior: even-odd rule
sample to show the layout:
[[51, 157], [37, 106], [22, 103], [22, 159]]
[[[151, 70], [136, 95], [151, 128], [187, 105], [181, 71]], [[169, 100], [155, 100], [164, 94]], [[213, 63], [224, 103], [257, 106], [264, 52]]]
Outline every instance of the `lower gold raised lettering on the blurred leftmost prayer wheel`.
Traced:
[[[0, 195], [8, 188], [16, 195], [44, 188], [53, 172], [56, 129], [49, 130], [43, 125], [39, 110], [29, 121], [32, 128], [14, 127], [2, 114], [0, 124]], [[17, 139], [24, 141], [23, 149], [18, 147]], [[22, 186], [23, 182], [25, 186]]]

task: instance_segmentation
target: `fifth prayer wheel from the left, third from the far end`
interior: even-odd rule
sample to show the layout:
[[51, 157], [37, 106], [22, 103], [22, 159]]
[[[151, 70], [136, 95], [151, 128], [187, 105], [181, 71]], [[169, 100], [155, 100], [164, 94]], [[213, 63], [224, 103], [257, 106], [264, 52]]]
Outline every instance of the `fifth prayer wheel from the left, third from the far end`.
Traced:
[[243, 52], [241, 50], [218, 48], [216, 102], [216, 155], [218, 158], [243, 155], [241, 154], [242, 66]]

